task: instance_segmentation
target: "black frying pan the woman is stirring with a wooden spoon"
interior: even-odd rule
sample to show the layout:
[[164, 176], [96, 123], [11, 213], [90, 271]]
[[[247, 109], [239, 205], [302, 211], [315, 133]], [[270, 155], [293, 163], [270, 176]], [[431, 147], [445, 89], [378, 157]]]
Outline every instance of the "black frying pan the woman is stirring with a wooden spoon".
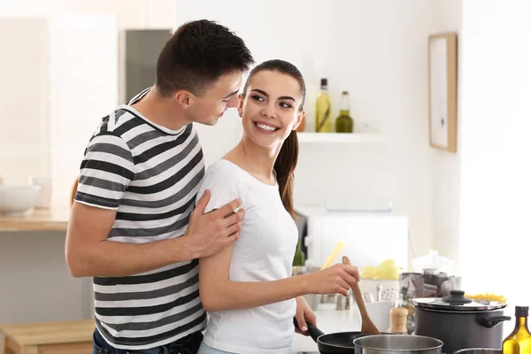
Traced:
[[[297, 325], [296, 319], [294, 322]], [[338, 332], [325, 335], [318, 327], [308, 322], [306, 322], [306, 327], [308, 327], [308, 334], [317, 343], [317, 348], [321, 354], [352, 354], [354, 352], [352, 342], [368, 335], [361, 332]], [[390, 333], [382, 333], [382, 335], [390, 335]]]

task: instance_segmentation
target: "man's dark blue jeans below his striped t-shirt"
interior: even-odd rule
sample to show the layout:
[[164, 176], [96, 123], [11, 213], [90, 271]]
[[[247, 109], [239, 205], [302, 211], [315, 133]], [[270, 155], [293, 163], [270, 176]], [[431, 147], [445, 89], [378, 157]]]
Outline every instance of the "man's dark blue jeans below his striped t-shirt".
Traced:
[[196, 332], [157, 348], [145, 350], [121, 350], [116, 349], [105, 342], [104, 338], [96, 328], [94, 335], [92, 336], [92, 342], [94, 344], [92, 354], [196, 354], [197, 350], [199, 350], [199, 345], [201, 345], [201, 341], [203, 341], [203, 335], [201, 332]]

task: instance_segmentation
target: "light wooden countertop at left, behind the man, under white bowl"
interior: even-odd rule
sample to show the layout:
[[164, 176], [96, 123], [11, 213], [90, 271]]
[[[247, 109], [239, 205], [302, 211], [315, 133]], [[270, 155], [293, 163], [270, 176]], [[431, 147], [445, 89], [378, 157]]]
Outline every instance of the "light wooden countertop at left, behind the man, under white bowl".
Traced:
[[0, 232], [66, 231], [70, 209], [32, 209], [22, 215], [0, 214]]

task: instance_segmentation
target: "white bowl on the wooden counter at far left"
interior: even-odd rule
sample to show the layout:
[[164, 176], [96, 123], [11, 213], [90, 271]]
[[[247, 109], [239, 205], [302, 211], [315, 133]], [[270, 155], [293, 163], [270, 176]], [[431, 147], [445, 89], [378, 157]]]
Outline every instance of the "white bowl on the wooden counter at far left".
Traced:
[[39, 186], [0, 186], [0, 213], [26, 212], [37, 204], [40, 191]]

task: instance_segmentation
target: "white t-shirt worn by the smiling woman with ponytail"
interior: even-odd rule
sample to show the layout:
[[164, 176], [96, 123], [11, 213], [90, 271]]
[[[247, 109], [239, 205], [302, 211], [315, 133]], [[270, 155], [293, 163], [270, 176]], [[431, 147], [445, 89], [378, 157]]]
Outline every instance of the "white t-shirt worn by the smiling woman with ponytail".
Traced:
[[[242, 199], [245, 216], [230, 263], [231, 281], [277, 281], [291, 275], [298, 232], [279, 195], [238, 165], [219, 160], [209, 167], [197, 194], [211, 191], [205, 212]], [[296, 301], [290, 299], [250, 309], [209, 312], [204, 342], [234, 353], [289, 353]]]

